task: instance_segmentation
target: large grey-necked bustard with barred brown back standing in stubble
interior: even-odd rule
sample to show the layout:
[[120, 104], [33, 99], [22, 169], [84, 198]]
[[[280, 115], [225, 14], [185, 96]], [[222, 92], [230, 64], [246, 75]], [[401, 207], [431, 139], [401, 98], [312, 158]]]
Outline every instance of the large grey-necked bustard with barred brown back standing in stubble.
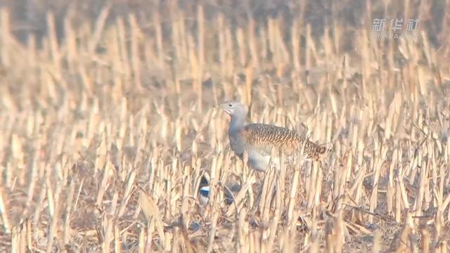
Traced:
[[[216, 105], [231, 117], [229, 124], [229, 142], [231, 149], [241, 160], [247, 152], [248, 166], [256, 171], [266, 171], [269, 167], [271, 149], [281, 148], [285, 155], [303, 155], [307, 159], [320, 161], [330, 152], [323, 145], [318, 145], [300, 136], [295, 131], [272, 124], [246, 124], [247, 110], [243, 103], [227, 101]], [[276, 157], [274, 157], [276, 158]], [[279, 169], [278, 158], [274, 164]]]

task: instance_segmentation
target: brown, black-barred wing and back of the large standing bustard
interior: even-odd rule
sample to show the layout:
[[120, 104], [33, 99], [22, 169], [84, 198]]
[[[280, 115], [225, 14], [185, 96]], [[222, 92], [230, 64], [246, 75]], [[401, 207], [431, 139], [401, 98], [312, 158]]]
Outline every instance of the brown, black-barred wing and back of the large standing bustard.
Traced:
[[[304, 143], [304, 137], [284, 127], [270, 124], [248, 124], [243, 128], [243, 136], [249, 147], [259, 153], [270, 155], [271, 148], [282, 148], [286, 154], [300, 153], [318, 160], [327, 149], [311, 141]], [[304, 147], [303, 147], [304, 145]]]

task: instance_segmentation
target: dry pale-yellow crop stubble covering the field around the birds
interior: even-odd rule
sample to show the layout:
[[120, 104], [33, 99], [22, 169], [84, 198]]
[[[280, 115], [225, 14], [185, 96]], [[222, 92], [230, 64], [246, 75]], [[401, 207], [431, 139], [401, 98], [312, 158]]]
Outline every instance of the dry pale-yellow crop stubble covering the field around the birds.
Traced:
[[[364, 25], [344, 1], [240, 20], [173, 2], [46, 13], [25, 43], [0, 11], [1, 251], [448, 251], [450, 1], [358, 1]], [[421, 38], [375, 39], [377, 15]], [[212, 108], [231, 98], [333, 153], [249, 171]]]

